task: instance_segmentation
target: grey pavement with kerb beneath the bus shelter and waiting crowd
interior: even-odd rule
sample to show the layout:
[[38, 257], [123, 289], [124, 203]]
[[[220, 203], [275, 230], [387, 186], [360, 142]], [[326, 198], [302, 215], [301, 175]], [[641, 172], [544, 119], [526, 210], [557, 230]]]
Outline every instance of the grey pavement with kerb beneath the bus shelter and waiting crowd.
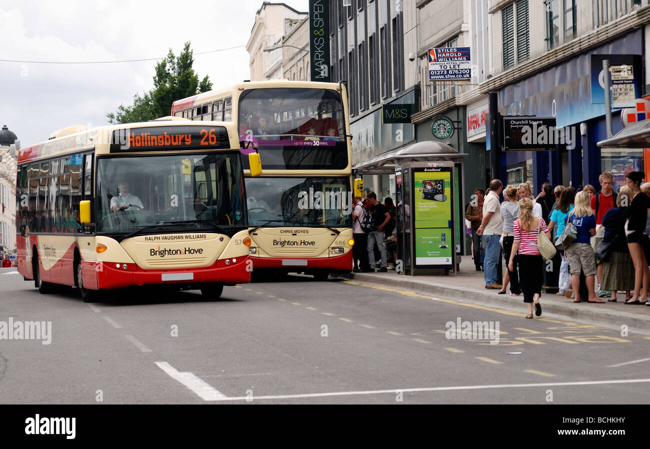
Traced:
[[[504, 266], [504, 273], [505, 270]], [[335, 276], [354, 279], [360, 283], [395, 287], [441, 298], [521, 311], [522, 318], [526, 314], [523, 294], [510, 296], [510, 286], [508, 286], [508, 294], [497, 294], [499, 290], [485, 288], [483, 272], [476, 271], [471, 256], [461, 257], [460, 270], [454, 275], [409, 276], [398, 274], [395, 270], [388, 270], [386, 273], [350, 273]], [[607, 298], [602, 299], [607, 300]], [[617, 294], [617, 300], [616, 303], [606, 302], [604, 304], [587, 303], [586, 301], [574, 303], [573, 298], [567, 299], [564, 296], [556, 296], [556, 294], [542, 293], [539, 302], [544, 316], [570, 318], [621, 331], [624, 330], [621, 326], [627, 326], [629, 331], [650, 335], [650, 307], [625, 305], [623, 303], [625, 294], [623, 293]]]

